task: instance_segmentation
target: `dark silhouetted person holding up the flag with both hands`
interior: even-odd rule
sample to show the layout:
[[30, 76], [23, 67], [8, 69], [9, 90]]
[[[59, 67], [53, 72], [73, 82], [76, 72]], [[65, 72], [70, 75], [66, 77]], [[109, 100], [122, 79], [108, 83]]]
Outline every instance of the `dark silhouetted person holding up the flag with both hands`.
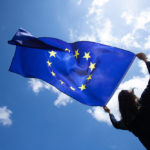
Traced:
[[[143, 60], [150, 73], [150, 62], [144, 53], [136, 55]], [[113, 126], [117, 129], [129, 130], [139, 138], [141, 143], [150, 150], [150, 80], [140, 98], [134, 90], [122, 90], [118, 95], [121, 120], [117, 121], [110, 109], [103, 107], [109, 113]]]

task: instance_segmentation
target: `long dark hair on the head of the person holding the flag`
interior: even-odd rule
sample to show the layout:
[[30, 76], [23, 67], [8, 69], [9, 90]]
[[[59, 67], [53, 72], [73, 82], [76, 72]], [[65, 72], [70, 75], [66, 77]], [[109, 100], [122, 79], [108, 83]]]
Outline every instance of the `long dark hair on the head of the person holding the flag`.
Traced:
[[128, 126], [139, 112], [138, 98], [135, 96], [133, 90], [132, 92], [122, 90], [119, 93], [118, 100], [122, 121]]

